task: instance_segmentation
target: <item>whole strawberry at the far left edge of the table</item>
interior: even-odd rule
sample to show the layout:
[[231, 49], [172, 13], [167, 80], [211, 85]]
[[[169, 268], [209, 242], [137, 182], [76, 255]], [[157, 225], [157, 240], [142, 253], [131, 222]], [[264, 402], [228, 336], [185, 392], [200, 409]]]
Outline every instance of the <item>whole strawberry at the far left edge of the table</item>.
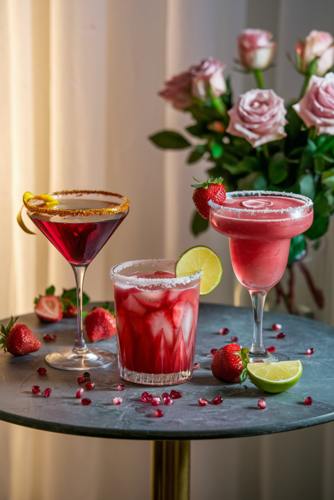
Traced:
[[14, 356], [23, 356], [40, 349], [42, 344], [28, 326], [23, 323], [14, 324], [18, 319], [13, 319], [12, 316], [6, 327], [1, 325], [0, 348], [5, 352], [8, 350]]

